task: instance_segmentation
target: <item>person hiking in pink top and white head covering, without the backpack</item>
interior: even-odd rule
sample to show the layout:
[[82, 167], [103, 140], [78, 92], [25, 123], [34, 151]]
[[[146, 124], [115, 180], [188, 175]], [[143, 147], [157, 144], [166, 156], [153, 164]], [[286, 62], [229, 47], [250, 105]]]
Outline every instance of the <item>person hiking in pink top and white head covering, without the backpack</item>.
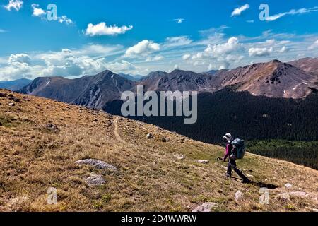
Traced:
[[245, 174], [243, 174], [240, 169], [237, 169], [236, 160], [237, 160], [237, 148], [232, 145], [232, 142], [234, 139], [232, 138], [232, 135], [230, 133], [226, 133], [225, 136], [223, 136], [226, 141], [228, 141], [226, 145], [226, 152], [225, 156], [223, 158], [223, 161], [226, 162], [228, 160], [228, 172], [226, 173], [226, 177], [232, 177], [232, 169], [243, 179], [243, 183], [249, 183], [251, 182], [247, 177], [245, 177]]

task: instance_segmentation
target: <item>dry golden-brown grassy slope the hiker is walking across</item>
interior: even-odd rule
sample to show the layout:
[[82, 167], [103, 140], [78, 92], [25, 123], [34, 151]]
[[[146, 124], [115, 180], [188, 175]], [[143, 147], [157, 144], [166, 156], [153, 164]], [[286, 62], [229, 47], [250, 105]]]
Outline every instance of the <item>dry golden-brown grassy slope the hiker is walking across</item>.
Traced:
[[[8, 91], [0, 90], [0, 93]], [[307, 211], [317, 208], [318, 172], [290, 162], [247, 154], [239, 162], [257, 182], [276, 184], [271, 205], [259, 204], [259, 187], [226, 179], [225, 165], [215, 161], [223, 148], [185, 138], [158, 127], [103, 112], [14, 93], [11, 107], [0, 98], [0, 210], [22, 211], [190, 211], [206, 201], [219, 211]], [[25, 96], [24, 96], [25, 97]], [[60, 131], [45, 129], [55, 124]], [[146, 139], [152, 133], [154, 139]], [[120, 137], [119, 137], [120, 136]], [[161, 139], [169, 138], [163, 143]], [[175, 154], [185, 155], [177, 160]], [[95, 158], [118, 167], [117, 173], [76, 165]], [[195, 160], [211, 160], [201, 165]], [[90, 173], [106, 184], [86, 185]], [[307, 198], [281, 201], [276, 194], [306, 191]], [[47, 189], [57, 188], [58, 203], [47, 205]], [[245, 195], [235, 201], [237, 190]]]

